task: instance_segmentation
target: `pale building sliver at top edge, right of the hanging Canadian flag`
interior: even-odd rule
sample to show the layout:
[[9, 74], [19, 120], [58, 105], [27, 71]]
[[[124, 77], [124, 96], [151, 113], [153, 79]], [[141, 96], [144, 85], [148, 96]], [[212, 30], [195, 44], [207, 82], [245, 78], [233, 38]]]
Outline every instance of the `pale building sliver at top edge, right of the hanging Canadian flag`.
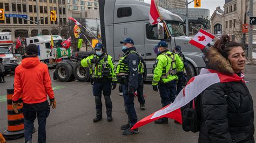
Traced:
[[157, 6], [164, 9], [185, 9], [186, 0], [156, 0]]

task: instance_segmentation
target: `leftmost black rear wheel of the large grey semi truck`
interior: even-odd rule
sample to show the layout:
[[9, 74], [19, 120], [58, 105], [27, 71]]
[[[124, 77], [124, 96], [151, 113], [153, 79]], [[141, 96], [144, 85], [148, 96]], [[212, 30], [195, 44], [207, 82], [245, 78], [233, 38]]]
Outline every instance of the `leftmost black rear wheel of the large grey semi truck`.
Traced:
[[56, 66], [56, 77], [60, 82], [69, 82], [73, 80], [73, 68], [69, 63], [59, 63]]

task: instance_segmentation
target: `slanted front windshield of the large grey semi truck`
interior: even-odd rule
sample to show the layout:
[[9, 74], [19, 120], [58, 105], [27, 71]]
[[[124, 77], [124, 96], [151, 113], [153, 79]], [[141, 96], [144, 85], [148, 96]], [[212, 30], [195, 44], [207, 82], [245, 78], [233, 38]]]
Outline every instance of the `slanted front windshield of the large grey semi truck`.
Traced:
[[167, 26], [173, 37], [184, 36], [183, 26], [180, 22], [167, 21]]

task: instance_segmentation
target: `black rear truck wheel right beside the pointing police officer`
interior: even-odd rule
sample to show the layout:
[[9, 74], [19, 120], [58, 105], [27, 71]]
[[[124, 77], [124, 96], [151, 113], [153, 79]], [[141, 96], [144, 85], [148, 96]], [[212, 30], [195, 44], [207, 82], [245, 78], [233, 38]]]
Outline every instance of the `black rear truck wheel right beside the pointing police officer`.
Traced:
[[87, 82], [90, 79], [89, 68], [82, 67], [80, 61], [76, 64], [73, 73], [79, 82]]

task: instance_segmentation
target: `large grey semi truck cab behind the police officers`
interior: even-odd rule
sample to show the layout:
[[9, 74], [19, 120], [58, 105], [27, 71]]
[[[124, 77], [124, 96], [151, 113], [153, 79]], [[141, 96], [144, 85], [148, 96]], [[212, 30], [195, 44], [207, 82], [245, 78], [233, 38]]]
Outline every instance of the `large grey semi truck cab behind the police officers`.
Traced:
[[205, 67], [204, 51], [189, 44], [192, 38], [184, 34], [182, 26], [184, 22], [178, 15], [160, 7], [158, 9], [163, 22], [167, 25], [168, 33], [163, 30], [163, 23], [150, 25], [148, 3], [135, 0], [99, 1], [100, 28], [107, 53], [114, 60], [119, 60], [120, 55], [123, 54], [120, 41], [126, 37], [132, 38], [137, 52], [146, 61], [147, 77], [152, 78], [153, 64], [157, 58], [154, 46], [160, 40], [165, 40], [169, 43], [170, 51], [176, 45], [181, 46], [181, 51], [189, 62], [185, 67], [188, 78], [198, 75], [200, 69]]

